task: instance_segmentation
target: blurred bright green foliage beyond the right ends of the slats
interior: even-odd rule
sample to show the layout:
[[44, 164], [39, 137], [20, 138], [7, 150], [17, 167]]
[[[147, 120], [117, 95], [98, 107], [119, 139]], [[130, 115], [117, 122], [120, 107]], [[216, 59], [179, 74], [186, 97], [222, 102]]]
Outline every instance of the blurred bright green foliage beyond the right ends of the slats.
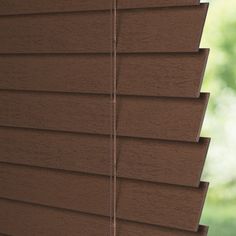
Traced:
[[212, 138], [203, 180], [209, 236], [236, 235], [236, 0], [210, 1], [202, 48], [211, 53], [203, 84], [211, 92], [202, 136]]

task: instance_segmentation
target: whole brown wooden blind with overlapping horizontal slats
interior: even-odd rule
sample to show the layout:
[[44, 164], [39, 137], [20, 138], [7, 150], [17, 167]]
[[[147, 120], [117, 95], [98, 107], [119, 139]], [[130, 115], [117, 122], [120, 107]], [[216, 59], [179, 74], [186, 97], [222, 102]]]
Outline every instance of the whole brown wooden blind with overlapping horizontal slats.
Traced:
[[[109, 236], [110, 7], [0, 1], [0, 235]], [[117, 7], [117, 236], [206, 236], [208, 4]]]

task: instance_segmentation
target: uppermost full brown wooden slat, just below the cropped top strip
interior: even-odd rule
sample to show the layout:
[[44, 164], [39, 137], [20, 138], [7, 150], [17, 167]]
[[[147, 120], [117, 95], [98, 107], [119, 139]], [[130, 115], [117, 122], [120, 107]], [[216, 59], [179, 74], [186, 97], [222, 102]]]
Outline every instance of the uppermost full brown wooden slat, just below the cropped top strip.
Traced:
[[[198, 51], [208, 4], [121, 10], [118, 52]], [[0, 53], [111, 51], [109, 11], [0, 18]]]

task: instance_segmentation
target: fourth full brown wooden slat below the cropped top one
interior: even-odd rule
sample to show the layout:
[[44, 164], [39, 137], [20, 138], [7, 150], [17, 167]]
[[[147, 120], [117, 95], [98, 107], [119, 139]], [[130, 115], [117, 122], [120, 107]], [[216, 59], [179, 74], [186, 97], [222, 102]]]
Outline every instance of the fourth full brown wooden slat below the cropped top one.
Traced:
[[[109, 175], [110, 142], [109, 136], [0, 128], [0, 161]], [[118, 176], [197, 187], [208, 145], [203, 138], [199, 143], [118, 138]]]

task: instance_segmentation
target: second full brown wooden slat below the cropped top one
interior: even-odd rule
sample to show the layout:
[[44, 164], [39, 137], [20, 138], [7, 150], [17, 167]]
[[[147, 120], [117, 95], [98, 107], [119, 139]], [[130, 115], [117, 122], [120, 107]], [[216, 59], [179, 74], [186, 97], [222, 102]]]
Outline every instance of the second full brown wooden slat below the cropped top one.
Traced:
[[[178, 54], [120, 54], [118, 94], [199, 97], [209, 50]], [[0, 56], [0, 89], [110, 94], [111, 57]]]

